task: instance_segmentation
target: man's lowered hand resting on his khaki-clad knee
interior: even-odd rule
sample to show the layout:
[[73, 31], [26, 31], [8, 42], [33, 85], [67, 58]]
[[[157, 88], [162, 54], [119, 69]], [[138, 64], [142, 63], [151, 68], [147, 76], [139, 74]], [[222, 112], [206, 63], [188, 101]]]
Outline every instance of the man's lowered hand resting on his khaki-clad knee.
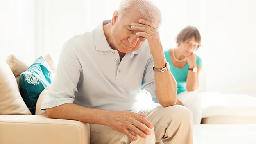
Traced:
[[132, 140], [137, 140], [137, 137], [132, 135], [129, 130], [145, 138], [151, 134], [150, 129], [153, 128], [153, 125], [145, 119], [145, 115], [134, 112], [111, 112], [106, 119], [106, 125], [124, 133]]

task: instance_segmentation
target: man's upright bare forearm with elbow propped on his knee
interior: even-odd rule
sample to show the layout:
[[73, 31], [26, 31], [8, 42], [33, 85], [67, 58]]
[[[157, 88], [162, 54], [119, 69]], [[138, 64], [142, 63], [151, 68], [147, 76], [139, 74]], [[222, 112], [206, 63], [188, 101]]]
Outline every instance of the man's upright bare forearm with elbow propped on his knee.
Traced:
[[[156, 68], [165, 67], [165, 56], [160, 55], [154, 57], [154, 66]], [[163, 106], [172, 106], [176, 103], [177, 95], [177, 83], [170, 71], [167, 72], [155, 72], [156, 83], [156, 99]]]

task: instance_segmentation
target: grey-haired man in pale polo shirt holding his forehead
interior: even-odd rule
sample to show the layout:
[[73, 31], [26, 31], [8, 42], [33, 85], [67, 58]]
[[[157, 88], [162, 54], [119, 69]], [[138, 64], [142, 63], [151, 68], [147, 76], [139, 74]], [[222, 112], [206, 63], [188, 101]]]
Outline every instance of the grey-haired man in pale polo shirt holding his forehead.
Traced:
[[[175, 105], [160, 23], [150, 0], [123, 0], [111, 20], [67, 41], [41, 105], [47, 117], [90, 123], [92, 144], [193, 143], [192, 114]], [[134, 108], [143, 89], [161, 106]]]

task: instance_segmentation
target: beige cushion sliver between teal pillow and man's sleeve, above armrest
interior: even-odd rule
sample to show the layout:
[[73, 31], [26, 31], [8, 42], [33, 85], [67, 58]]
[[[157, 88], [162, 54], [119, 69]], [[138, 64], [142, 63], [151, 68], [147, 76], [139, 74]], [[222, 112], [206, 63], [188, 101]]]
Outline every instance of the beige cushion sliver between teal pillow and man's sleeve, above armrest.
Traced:
[[46, 110], [41, 110], [41, 103], [45, 99], [45, 97], [48, 95], [49, 86], [45, 88], [41, 94], [39, 95], [37, 102], [36, 102], [36, 115], [45, 115], [46, 116]]

